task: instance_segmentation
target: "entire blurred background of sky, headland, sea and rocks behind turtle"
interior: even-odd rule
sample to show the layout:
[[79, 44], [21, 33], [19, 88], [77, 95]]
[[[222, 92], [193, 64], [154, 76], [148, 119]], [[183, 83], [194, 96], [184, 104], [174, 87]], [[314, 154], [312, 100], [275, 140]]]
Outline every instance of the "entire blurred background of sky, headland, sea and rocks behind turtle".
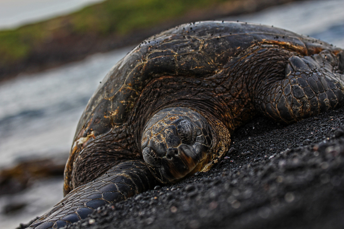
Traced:
[[0, 228], [62, 199], [77, 121], [135, 44], [198, 20], [256, 22], [344, 47], [343, 0], [0, 0]]

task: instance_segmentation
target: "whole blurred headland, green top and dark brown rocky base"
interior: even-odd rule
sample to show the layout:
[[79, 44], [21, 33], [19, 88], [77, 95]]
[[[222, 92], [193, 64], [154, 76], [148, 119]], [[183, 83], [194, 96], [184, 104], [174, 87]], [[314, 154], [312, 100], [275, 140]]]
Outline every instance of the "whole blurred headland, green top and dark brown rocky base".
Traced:
[[39, 72], [134, 45], [182, 23], [253, 13], [293, 1], [297, 0], [106, 0], [68, 15], [0, 31], [0, 82], [18, 73]]

